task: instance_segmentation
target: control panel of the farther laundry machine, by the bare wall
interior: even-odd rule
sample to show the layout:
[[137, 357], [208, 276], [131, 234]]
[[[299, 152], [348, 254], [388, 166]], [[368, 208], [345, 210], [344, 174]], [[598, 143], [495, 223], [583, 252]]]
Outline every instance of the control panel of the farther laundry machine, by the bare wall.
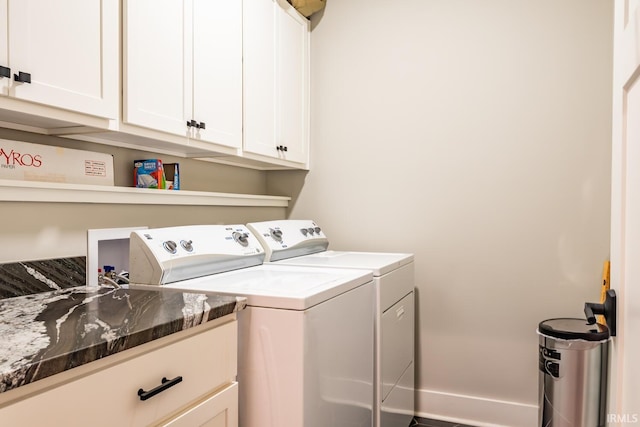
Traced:
[[322, 252], [329, 247], [329, 240], [322, 228], [311, 220], [252, 222], [247, 227], [264, 247], [265, 261]]

